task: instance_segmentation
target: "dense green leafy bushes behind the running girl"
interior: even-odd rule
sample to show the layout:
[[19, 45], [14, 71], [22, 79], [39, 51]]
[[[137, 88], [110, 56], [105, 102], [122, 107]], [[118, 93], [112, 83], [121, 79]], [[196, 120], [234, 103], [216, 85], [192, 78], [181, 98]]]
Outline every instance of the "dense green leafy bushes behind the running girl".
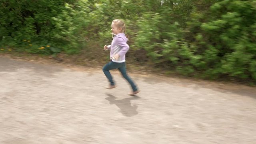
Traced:
[[106, 60], [116, 18], [138, 63], [256, 82], [256, 0], [0, 0], [0, 51]]

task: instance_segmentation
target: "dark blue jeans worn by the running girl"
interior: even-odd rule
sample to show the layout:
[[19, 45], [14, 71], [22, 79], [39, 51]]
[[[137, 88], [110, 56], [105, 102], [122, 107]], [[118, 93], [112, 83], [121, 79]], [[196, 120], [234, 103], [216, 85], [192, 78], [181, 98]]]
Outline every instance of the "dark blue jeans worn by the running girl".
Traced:
[[125, 62], [118, 63], [118, 62], [112, 62], [110, 61], [108, 64], [103, 66], [102, 70], [105, 74], [105, 76], [108, 78], [108, 81], [110, 82], [110, 85], [114, 86], [115, 82], [113, 81], [113, 77], [111, 76], [109, 70], [114, 70], [118, 68], [118, 70], [121, 72], [122, 76], [129, 82], [129, 84], [132, 87], [132, 90], [135, 92], [137, 91], [137, 87], [132, 81], [132, 79], [126, 74], [126, 64]]

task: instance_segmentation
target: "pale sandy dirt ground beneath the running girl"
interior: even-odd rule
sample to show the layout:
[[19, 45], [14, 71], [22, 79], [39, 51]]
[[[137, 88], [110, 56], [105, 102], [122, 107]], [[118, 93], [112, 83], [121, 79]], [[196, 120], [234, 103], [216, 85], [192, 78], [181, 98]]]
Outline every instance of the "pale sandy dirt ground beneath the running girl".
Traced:
[[0, 144], [255, 144], [256, 88], [0, 56]]

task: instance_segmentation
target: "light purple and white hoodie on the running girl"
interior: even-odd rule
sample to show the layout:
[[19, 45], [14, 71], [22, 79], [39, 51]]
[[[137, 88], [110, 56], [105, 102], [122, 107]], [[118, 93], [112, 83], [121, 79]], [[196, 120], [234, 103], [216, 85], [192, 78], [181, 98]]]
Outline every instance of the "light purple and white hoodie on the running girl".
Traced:
[[114, 54], [118, 54], [119, 58], [116, 60], [112, 60], [113, 62], [125, 62], [125, 54], [129, 50], [129, 45], [126, 44], [128, 38], [126, 38], [124, 33], [119, 33], [114, 36], [111, 45], [108, 46], [108, 50], [110, 50], [110, 58], [114, 56]]

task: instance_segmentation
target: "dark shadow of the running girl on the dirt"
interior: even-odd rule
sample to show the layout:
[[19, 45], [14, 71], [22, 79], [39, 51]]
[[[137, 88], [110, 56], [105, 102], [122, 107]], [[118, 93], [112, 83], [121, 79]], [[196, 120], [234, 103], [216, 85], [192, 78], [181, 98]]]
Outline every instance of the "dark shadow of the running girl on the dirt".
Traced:
[[136, 111], [138, 106], [137, 105], [132, 106], [130, 100], [136, 100], [140, 97], [133, 96], [130, 98], [124, 98], [122, 100], [116, 100], [116, 97], [113, 96], [112, 94], [106, 94], [106, 95], [108, 97], [105, 99], [109, 101], [109, 104], [116, 104], [116, 106], [118, 106], [118, 108], [120, 108], [120, 112], [124, 116], [135, 116], [136, 114], [138, 114], [138, 112]]

